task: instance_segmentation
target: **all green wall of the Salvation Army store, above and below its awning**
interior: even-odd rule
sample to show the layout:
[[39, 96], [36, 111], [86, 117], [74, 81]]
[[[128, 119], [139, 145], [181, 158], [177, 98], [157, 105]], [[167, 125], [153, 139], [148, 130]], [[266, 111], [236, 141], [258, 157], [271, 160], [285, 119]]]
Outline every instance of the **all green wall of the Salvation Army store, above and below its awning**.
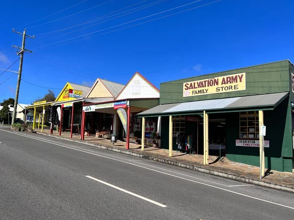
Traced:
[[[183, 97], [183, 83], [225, 76], [237, 73], [246, 73], [246, 90], [225, 92], [218, 94]], [[290, 91], [290, 96], [280, 103], [275, 110], [264, 111], [264, 123], [267, 126], [265, 140], [270, 141], [270, 148], [265, 148], [265, 166], [270, 170], [292, 172], [293, 145], [292, 145], [292, 107], [294, 93], [292, 92], [292, 76], [294, 68], [289, 61], [275, 62], [260, 66], [251, 66], [206, 76], [177, 80], [160, 85], [160, 104], [181, 103], [206, 99], [219, 99], [254, 94]], [[212, 114], [210, 114], [212, 116]], [[236, 146], [239, 138], [239, 112], [224, 113], [226, 119], [226, 156], [229, 160], [249, 165], [259, 166], [259, 148]], [[210, 117], [211, 118], [211, 117]], [[236, 123], [237, 122], [237, 123]], [[186, 128], [187, 129], [187, 128]], [[202, 132], [203, 133], [203, 132]], [[161, 147], [169, 148], [169, 118], [162, 117]], [[203, 139], [199, 135], [199, 140]], [[203, 141], [199, 148], [203, 148]], [[173, 138], [173, 150], [176, 150]], [[200, 151], [199, 151], [200, 152]]]

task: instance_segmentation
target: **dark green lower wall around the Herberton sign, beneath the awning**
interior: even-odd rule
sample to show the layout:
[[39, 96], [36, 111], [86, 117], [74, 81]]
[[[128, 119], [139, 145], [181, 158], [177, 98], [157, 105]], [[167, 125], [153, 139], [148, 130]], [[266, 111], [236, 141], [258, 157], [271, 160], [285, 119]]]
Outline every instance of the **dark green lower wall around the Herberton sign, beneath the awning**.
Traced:
[[[267, 126], [265, 140], [270, 148], [265, 148], [265, 166], [270, 170], [292, 172], [292, 132], [289, 98], [275, 110], [264, 111]], [[229, 160], [259, 166], [259, 148], [236, 146], [239, 138], [239, 112], [226, 114], [226, 157]]]

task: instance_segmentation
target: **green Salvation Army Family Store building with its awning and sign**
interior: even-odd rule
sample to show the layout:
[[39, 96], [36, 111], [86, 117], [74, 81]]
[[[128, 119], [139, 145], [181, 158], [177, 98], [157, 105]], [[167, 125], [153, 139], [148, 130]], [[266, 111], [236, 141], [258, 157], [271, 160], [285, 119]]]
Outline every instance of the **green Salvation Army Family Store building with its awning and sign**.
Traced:
[[231, 161], [260, 166], [261, 141], [265, 168], [292, 172], [293, 103], [294, 66], [285, 60], [161, 83], [160, 105], [138, 116], [161, 117], [161, 148], [186, 151], [177, 142], [189, 136], [194, 154], [221, 149]]

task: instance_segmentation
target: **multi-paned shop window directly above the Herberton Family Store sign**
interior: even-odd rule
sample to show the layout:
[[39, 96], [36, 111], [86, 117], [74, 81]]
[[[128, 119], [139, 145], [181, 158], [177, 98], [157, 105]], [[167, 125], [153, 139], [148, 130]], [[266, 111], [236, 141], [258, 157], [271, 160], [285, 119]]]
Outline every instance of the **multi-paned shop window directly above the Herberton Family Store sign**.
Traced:
[[259, 138], [258, 111], [240, 112], [240, 138]]

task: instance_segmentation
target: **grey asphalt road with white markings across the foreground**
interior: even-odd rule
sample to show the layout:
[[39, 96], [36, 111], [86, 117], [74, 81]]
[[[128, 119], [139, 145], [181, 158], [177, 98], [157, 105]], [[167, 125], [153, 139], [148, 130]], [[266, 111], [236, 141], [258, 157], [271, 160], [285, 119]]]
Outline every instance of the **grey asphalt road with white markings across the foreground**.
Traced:
[[0, 219], [292, 220], [294, 194], [0, 126]]

